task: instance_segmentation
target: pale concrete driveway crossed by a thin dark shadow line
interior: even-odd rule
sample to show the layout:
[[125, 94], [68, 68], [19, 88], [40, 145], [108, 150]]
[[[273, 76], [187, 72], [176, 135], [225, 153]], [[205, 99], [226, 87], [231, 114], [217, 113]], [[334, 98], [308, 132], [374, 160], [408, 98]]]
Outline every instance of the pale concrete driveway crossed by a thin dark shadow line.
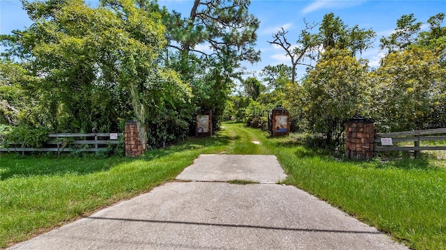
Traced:
[[408, 249], [284, 178], [272, 155], [201, 155], [178, 182], [10, 249]]

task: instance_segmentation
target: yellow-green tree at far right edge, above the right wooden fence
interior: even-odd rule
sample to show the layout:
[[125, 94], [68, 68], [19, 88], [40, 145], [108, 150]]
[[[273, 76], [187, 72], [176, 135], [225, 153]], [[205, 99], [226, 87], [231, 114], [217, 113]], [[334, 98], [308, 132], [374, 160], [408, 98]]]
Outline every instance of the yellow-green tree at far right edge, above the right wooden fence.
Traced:
[[378, 127], [384, 131], [426, 127], [431, 112], [442, 113], [438, 104], [444, 102], [445, 74], [430, 50], [414, 47], [388, 54], [374, 72]]

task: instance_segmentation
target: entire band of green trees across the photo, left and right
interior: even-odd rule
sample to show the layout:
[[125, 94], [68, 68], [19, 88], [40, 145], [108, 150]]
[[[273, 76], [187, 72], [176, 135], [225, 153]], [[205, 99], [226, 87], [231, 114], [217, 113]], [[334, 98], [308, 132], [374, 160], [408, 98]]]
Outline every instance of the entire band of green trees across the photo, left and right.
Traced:
[[[334, 13], [304, 20], [297, 38], [282, 28], [270, 41], [290, 64], [268, 65], [257, 79], [241, 68], [260, 59], [248, 0], [194, 0], [188, 13], [152, 0], [22, 3], [33, 24], [0, 37], [3, 124], [109, 132], [133, 118], [141, 138], [160, 146], [193, 131], [200, 109], [213, 111], [216, 128], [223, 117], [265, 127], [259, 116], [278, 104], [291, 110], [294, 127], [304, 114], [318, 116], [315, 130], [325, 118], [352, 116], [374, 118], [385, 131], [446, 123], [445, 13], [426, 22], [401, 16], [380, 38], [377, 68], [361, 58], [373, 29]], [[307, 66], [300, 79], [297, 65]], [[231, 96], [236, 82], [244, 92]]]

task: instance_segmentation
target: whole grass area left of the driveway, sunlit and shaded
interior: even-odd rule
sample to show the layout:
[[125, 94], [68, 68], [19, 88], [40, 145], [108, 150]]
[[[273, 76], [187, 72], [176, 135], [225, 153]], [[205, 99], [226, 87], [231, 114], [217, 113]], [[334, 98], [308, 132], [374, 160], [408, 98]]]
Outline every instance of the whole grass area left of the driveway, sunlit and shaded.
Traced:
[[91, 214], [172, 180], [202, 153], [231, 143], [220, 133], [144, 157], [0, 155], [0, 248]]

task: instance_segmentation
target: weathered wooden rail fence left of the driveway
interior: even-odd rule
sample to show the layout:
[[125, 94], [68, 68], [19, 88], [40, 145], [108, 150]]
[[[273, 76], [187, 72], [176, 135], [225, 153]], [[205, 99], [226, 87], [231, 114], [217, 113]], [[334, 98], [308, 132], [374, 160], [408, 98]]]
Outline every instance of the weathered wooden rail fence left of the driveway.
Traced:
[[[0, 148], [0, 152], [98, 152], [105, 150], [110, 144], [118, 144], [118, 137], [123, 133], [59, 133], [48, 134], [50, 140], [45, 143], [43, 148], [27, 148], [24, 143], [8, 143], [7, 148]], [[112, 139], [111, 139], [112, 138]], [[0, 145], [2, 143], [0, 142]], [[78, 146], [72, 147], [72, 146]]]

